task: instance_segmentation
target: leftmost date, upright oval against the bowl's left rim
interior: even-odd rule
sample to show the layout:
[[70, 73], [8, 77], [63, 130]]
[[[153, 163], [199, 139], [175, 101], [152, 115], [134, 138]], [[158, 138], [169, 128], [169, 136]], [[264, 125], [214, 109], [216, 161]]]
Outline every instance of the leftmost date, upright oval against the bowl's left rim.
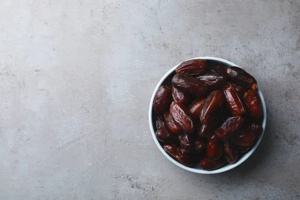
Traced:
[[171, 88], [161, 85], [154, 96], [153, 108], [157, 115], [161, 115], [169, 108], [172, 102]]

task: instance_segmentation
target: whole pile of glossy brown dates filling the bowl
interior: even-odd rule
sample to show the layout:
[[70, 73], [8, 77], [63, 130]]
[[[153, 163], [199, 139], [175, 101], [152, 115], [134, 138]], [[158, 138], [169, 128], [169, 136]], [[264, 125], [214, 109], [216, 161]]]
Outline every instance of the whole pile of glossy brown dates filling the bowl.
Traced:
[[213, 170], [235, 163], [262, 133], [261, 100], [253, 76], [237, 66], [182, 62], [172, 85], [153, 101], [155, 135], [163, 149], [186, 166]]

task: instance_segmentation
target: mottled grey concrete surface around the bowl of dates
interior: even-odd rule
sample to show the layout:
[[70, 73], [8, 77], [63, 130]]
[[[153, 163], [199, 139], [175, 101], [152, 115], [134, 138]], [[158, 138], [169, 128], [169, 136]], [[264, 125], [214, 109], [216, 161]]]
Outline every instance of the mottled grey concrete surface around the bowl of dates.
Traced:
[[[184, 171], [148, 104], [182, 60], [253, 74], [265, 136], [239, 167]], [[300, 0], [0, 0], [0, 199], [300, 199]]]

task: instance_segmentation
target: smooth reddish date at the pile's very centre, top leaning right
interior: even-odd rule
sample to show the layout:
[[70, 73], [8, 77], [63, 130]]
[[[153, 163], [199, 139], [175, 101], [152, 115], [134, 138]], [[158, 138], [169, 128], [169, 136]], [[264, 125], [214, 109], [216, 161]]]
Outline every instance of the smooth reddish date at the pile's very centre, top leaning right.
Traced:
[[223, 105], [224, 97], [222, 92], [214, 90], [208, 94], [200, 112], [200, 121], [207, 124], [211, 119], [211, 114]]

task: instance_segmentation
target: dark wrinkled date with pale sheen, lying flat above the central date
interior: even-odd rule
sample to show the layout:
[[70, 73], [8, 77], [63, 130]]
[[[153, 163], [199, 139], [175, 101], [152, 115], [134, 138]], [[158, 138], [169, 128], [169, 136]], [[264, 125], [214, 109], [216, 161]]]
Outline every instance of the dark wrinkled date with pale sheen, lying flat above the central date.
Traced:
[[199, 75], [196, 77], [196, 79], [204, 81], [207, 84], [208, 91], [221, 89], [222, 86], [226, 83], [226, 78], [224, 76]]

